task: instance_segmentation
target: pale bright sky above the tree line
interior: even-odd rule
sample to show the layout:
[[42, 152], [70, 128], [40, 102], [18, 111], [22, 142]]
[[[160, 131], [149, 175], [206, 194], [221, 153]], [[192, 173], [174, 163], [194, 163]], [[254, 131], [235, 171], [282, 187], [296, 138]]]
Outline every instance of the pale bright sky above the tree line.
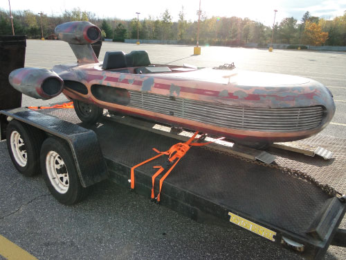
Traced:
[[[60, 15], [64, 10], [80, 8], [94, 12], [100, 18], [117, 17], [132, 19], [140, 12], [140, 19], [159, 17], [167, 8], [173, 17], [178, 19], [181, 7], [184, 7], [188, 20], [196, 20], [199, 0], [10, 0], [12, 10], [32, 10], [47, 15]], [[0, 1], [0, 8], [8, 10], [8, 0]], [[309, 11], [311, 15], [332, 19], [343, 15], [346, 0], [201, 0], [201, 10], [207, 17], [248, 17], [266, 25], [273, 24], [274, 10], [277, 10], [276, 21], [284, 17], [295, 17], [298, 21]]]

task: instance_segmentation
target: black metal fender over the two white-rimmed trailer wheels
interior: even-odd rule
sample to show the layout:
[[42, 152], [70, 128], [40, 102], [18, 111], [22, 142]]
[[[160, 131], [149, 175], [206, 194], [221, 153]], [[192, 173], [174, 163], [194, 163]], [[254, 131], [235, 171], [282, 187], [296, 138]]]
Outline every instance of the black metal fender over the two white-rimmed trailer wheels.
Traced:
[[26, 107], [19, 107], [0, 111], [1, 140], [6, 139], [6, 126], [8, 120], [12, 119], [33, 125], [48, 135], [66, 141], [71, 148], [82, 187], [89, 187], [108, 178], [107, 166], [102, 156], [98, 138], [93, 130], [82, 128], [80, 125], [69, 123], [55, 116], [28, 110]]

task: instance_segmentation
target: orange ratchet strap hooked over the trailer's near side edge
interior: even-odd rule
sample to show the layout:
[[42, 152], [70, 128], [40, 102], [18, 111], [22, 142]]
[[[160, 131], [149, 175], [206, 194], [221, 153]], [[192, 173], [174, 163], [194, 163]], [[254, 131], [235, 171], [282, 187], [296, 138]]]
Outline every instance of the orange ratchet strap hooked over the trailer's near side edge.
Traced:
[[[167, 159], [167, 165], [166, 166], [154, 166], [153, 168], [158, 168], [158, 171], [156, 171], [156, 173], [154, 175], [152, 175], [152, 200], [155, 199], [155, 195], [154, 195], [154, 184], [155, 184], [155, 178], [160, 175], [163, 171], [165, 171], [165, 169], [170, 166], [170, 168], [168, 169], [168, 171], [165, 173], [165, 175], [163, 175], [163, 177], [161, 177], [160, 179], [160, 189], [158, 191], [158, 195], [156, 197], [156, 201], [160, 202], [160, 194], [161, 194], [161, 189], [162, 189], [162, 184], [163, 181], [165, 180], [165, 178], [172, 172], [173, 168], [176, 166], [176, 164], [178, 164], [178, 162], [180, 161], [180, 159], [186, 154], [188, 153], [188, 150], [190, 150], [191, 146], [205, 146], [206, 144], [211, 144], [215, 141], [224, 139], [224, 137], [221, 137], [219, 139], [216, 139], [215, 141], [209, 141], [207, 143], [192, 143], [192, 141], [194, 140], [194, 138], [198, 135], [198, 131], [194, 133], [194, 135], [192, 135], [192, 137], [186, 141], [185, 143], [178, 143], [178, 144], [174, 144], [174, 146], [172, 146], [170, 148], [170, 150], [166, 150], [165, 152], [160, 152], [159, 150], [157, 150], [156, 148], [153, 148], [153, 150], [158, 153], [158, 155], [155, 155], [154, 157], [147, 159], [144, 162], [141, 162], [140, 164], [137, 164], [135, 166], [133, 166], [131, 168], [131, 189], [134, 189], [134, 169], [142, 166], [143, 164], [147, 164], [148, 162], [151, 162], [152, 160], [161, 157], [162, 155], [168, 155], [168, 159]], [[202, 138], [204, 139], [206, 137], [206, 135], [201, 135], [201, 137], [199, 137], [199, 139], [197, 141], [201, 141]]]

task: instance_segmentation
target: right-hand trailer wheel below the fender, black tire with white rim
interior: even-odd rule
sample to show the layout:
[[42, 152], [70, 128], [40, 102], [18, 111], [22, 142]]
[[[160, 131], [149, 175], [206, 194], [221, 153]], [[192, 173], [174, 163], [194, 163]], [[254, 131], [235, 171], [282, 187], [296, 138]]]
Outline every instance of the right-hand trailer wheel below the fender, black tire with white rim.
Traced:
[[[60, 159], [64, 166], [55, 168], [56, 174], [54, 175], [54, 170], [49, 167], [52, 164], [57, 166]], [[54, 168], [54, 166], [52, 167]], [[90, 189], [82, 187], [80, 183], [71, 149], [61, 139], [49, 137], [44, 141], [41, 148], [41, 168], [49, 191], [60, 203], [73, 205], [84, 200], [88, 195]], [[65, 173], [67, 173], [67, 178]]]

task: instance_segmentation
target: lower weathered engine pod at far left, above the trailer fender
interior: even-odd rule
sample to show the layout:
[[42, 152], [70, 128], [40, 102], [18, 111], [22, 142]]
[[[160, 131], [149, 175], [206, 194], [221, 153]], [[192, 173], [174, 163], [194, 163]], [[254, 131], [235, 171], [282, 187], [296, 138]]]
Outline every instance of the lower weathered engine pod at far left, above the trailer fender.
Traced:
[[8, 76], [10, 85], [32, 98], [49, 99], [62, 93], [64, 81], [54, 71], [38, 68], [15, 69]]

